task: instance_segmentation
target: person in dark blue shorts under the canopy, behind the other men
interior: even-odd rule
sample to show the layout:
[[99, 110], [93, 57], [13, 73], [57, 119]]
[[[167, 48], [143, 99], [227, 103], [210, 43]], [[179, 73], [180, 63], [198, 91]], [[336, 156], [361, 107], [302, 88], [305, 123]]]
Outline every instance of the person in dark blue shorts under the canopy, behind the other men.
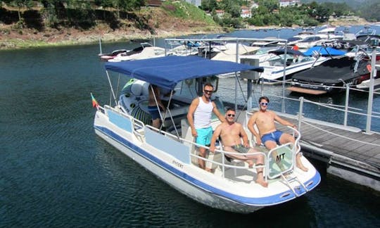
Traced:
[[[156, 103], [156, 100], [157, 100], [157, 103]], [[149, 85], [148, 112], [151, 114], [152, 126], [156, 128], [160, 128], [161, 117], [160, 117], [160, 113], [158, 112], [157, 104], [161, 109], [161, 113], [162, 112], [165, 113], [165, 106], [163, 105], [160, 99], [160, 89], [155, 84], [151, 84]]]

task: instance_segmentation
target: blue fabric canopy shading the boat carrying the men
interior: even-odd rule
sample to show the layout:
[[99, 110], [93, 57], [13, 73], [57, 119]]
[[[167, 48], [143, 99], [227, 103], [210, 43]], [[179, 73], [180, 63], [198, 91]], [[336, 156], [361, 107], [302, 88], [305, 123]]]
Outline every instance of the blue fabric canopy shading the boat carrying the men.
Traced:
[[198, 77], [243, 70], [264, 71], [263, 68], [252, 65], [211, 61], [198, 56], [165, 56], [137, 61], [108, 62], [105, 68], [166, 89], [174, 89], [178, 82]]

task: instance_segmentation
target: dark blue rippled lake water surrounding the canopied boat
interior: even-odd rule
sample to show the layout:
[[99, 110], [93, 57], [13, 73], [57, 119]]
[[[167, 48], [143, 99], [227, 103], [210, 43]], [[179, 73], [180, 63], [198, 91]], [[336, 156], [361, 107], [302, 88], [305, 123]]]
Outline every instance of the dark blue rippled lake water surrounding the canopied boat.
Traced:
[[101, 104], [110, 95], [97, 53], [97, 44], [0, 52], [0, 227], [380, 227], [379, 192], [317, 161], [315, 190], [250, 215], [179, 194], [96, 137], [90, 92]]

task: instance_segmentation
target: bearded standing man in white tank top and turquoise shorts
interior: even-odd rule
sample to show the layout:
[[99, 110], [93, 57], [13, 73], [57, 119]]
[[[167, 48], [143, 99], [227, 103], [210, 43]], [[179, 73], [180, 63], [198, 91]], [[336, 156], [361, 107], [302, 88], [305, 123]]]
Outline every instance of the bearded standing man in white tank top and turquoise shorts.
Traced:
[[[187, 113], [187, 120], [191, 127], [191, 134], [196, 138], [196, 144], [202, 146], [209, 146], [210, 139], [213, 136], [213, 127], [211, 127], [211, 115], [215, 113], [221, 122], [224, 122], [224, 116], [220, 114], [219, 110], [213, 101], [211, 95], [213, 94], [213, 85], [206, 83], [203, 87], [203, 95], [197, 97], [191, 102], [189, 113]], [[199, 147], [199, 156], [206, 157], [206, 149]], [[198, 158], [198, 165], [203, 170], [205, 167], [205, 160]], [[210, 172], [209, 168], [205, 169]]]

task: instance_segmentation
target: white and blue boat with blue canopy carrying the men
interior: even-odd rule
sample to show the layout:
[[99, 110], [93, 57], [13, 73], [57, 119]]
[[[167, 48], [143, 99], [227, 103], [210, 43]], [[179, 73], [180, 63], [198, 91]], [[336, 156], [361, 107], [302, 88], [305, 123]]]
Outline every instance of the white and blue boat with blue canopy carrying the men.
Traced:
[[[94, 105], [97, 108], [94, 116], [96, 134], [194, 201], [234, 213], [252, 213], [298, 198], [319, 184], [319, 172], [307, 158], [301, 158], [303, 165], [308, 168], [307, 172], [295, 165], [301, 135], [293, 128], [289, 128], [289, 131], [298, 134], [296, 145], [284, 144], [272, 151], [257, 147], [257, 153], [265, 158], [263, 165], [249, 167], [239, 160], [227, 159], [234, 153], [224, 151], [221, 142], [215, 145], [215, 153], [211, 153], [208, 158], [196, 153], [196, 146], [200, 145], [194, 143], [186, 114], [192, 99], [203, 88], [203, 83], [216, 79], [213, 84], [217, 91], [212, 99], [224, 113], [224, 102], [215, 96], [222, 89], [217, 87], [219, 80], [215, 75], [262, 71], [262, 68], [232, 61], [212, 61], [198, 56], [164, 56], [107, 62], [105, 69], [112, 91], [111, 102], [110, 105], [101, 106], [96, 101]], [[122, 81], [119, 80], [120, 75], [125, 76], [127, 83], [122, 94], [117, 96], [113, 89], [115, 84], [111, 82]], [[148, 84], [156, 84], [170, 91], [167, 109], [165, 113], [160, 112], [163, 120], [160, 129], [151, 126], [150, 115], [146, 111]], [[251, 110], [239, 112], [243, 113], [244, 122], [252, 114]], [[219, 124], [220, 121], [213, 118], [213, 128]], [[249, 134], [246, 124], [243, 126]], [[277, 151], [277, 156], [274, 156], [274, 151]], [[213, 172], [198, 167], [198, 158], [204, 159]], [[281, 169], [278, 163], [283, 165]], [[269, 183], [267, 187], [255, 183], [257, 167], [264, 168], [265, 179]]]

